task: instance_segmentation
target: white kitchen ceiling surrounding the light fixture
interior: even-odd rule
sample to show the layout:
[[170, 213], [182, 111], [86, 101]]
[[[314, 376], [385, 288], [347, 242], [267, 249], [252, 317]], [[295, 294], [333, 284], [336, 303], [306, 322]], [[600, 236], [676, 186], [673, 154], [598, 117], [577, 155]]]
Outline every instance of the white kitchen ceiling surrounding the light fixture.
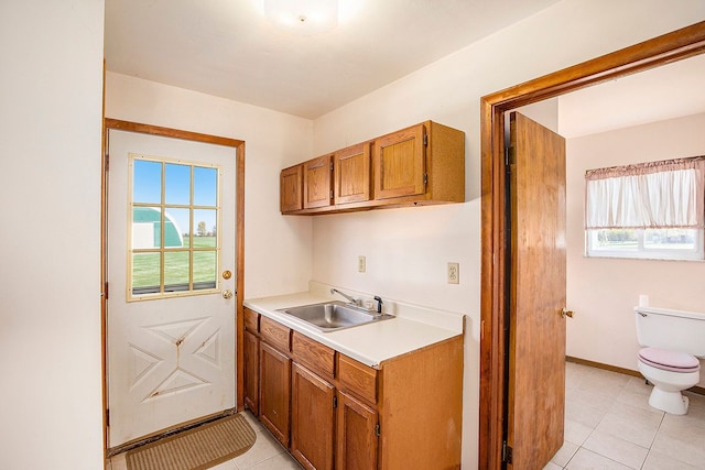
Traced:
[[297, 36], [262, 0], [106, 0], [108, 70], [315, 119], [558, 0], [339, 0]]

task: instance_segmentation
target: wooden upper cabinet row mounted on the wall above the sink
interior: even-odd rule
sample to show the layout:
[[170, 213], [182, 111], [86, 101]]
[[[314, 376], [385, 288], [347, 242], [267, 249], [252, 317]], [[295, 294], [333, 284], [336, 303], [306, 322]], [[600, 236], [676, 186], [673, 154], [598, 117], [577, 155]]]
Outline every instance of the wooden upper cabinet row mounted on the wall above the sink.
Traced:
[[425, 121], [292, 166], [281, 178], [282, 214], [464, 203], [465, 133]]

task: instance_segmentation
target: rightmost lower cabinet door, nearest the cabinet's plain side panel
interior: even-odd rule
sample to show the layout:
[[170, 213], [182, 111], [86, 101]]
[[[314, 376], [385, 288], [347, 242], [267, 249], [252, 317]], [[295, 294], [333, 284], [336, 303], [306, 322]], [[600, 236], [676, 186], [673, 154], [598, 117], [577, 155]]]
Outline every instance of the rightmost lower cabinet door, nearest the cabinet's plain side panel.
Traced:
[[377, 469], [377, 412], [338, 392], [336, 470]]

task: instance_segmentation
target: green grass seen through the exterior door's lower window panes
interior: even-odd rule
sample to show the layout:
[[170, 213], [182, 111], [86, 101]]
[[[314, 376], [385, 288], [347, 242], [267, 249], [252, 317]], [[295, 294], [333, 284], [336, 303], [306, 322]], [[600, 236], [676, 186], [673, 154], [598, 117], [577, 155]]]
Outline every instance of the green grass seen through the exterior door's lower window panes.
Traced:
[[[184, 237], [188, 247], [189, 237]], [[215, 248], [215, 237], [194, 237], [194, 248]], [[194, 251], [194, 282], [215, 282], [217, 278], [216, 251]], [[132, 287], [160, 285], [160, 252], [143, 252], [132, 255]], [[188, 283], [188, 251], [165, 250], [164, 284]]]

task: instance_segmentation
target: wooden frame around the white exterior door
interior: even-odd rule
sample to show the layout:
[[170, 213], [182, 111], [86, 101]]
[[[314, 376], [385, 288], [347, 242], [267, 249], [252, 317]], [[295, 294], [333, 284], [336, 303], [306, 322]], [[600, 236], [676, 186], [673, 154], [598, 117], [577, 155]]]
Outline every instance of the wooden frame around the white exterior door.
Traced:
[[100, 178], [100, 336], [102, 343], [102, 407], [104, 407], [104, 450], [108, 452], [108, 376], [107, 376], [107, 305], [108, 305], [108, 130], [119, 130], [137, 132], [149, 135], [182, 139], [194, 142], [210, 143], [235, 149], [236, 151], [236, 207], [235, 207], [235, 255], [236, 255], [236, 407], [243, 408], [245, 403], [245, 356], [243, 356], [243, 313], [242, 299], [245, 298], [245, 141], [238, 139], [223, 138], [217, 135], [202, 134], [197, 132], [183, 131], [177, 129], [162, 128], [159, 125], [142, 124], [138, 122], [121, 121], [118, 119], [104, 118], [102, 125], [102, 157]]

